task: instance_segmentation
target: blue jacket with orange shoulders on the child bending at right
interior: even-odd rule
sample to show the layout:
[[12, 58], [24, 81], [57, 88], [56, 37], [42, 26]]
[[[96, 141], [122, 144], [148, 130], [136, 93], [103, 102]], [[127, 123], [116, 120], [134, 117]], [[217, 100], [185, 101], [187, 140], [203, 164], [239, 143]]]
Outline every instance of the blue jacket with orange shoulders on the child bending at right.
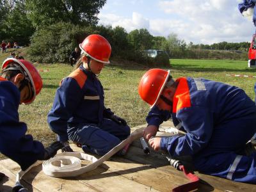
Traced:
[[[193, 155], [207, 146], [214, 127], [236, 120], [255, 118], [255, 103], [236, 86], [207, 79], [177, 79], [172, 114], [155, 106], [146, 118], [148, 125], [159, 126], [172, 115], [173, 124], [181, 125], [185, 136], [161, 139], [161, 148], [171, 156]], [[227, 132], [228, 134], [228, 132]]]

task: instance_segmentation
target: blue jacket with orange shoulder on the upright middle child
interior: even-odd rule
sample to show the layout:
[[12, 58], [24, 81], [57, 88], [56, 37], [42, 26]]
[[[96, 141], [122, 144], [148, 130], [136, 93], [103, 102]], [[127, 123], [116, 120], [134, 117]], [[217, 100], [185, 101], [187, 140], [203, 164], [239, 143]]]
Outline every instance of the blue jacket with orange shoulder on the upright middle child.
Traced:
[[58, 140], [67, 141], [69, 125], [101, 124], [104, 117], [112, 114], [104, 106], [104, 91], [99, 79], [81, 66], [61, 81], [47, 121], [58, 134]]

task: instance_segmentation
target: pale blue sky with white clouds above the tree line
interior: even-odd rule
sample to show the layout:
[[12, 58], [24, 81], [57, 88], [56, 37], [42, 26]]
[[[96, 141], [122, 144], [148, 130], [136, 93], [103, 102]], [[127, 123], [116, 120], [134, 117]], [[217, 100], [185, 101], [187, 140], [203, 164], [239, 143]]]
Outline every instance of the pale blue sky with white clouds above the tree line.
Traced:
[[153, 36], [175, 33], [193, 44], [251, 42], [255, 26], [238, 10], [242, 0], [107, 0], [99, 24], [127, 33], [147, 29]]

